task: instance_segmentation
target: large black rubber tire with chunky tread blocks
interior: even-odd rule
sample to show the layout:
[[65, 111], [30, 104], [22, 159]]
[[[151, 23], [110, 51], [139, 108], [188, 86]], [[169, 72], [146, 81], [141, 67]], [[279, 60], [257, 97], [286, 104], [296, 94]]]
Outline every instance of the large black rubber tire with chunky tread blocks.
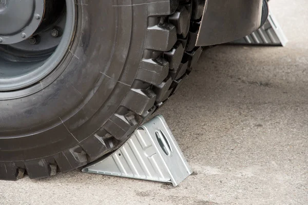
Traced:
[[196, 64], [194, 2], [76, 0], [71, 47], [50, 74], [59, 77], [31, 95], [0, 92], [0, 179], [67, 172], [123, 144]]

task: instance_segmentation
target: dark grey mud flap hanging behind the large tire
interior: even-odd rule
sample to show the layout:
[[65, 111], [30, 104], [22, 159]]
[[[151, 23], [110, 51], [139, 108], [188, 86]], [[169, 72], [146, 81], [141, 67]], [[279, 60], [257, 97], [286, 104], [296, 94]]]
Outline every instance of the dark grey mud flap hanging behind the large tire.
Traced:
[[261, 25], [262, 0], [206, 0], [196, 46], [230, 42]]

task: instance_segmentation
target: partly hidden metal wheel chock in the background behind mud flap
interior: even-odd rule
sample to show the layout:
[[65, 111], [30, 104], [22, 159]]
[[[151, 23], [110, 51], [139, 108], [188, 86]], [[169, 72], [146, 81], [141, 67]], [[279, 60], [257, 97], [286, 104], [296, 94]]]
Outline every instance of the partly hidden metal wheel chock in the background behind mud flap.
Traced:
[[265, 24], [260, 29], [231, 43], [285, 46], [287, 38], [273, 13], [270, 12]]

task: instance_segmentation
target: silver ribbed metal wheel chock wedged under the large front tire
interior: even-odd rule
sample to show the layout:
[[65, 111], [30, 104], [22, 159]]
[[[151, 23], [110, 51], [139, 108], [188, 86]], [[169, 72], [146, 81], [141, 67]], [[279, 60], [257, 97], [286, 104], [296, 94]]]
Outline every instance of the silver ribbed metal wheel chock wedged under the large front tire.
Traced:
[[161, 115], [138, 128], [119, 150], [82, 171], [172, 182], [174, 186], [192, 173]]

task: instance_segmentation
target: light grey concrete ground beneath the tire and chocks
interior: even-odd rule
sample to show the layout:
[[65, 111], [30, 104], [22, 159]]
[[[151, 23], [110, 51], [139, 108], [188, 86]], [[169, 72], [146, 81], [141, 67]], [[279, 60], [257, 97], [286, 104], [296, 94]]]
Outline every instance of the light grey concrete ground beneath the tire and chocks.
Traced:
[[308, 204], [308, 5], [271, 1], [285, 48], [217, 46], [159, 112], [194, 175], [179, 187], [72, 171], [0, 181], [1, 204]]

